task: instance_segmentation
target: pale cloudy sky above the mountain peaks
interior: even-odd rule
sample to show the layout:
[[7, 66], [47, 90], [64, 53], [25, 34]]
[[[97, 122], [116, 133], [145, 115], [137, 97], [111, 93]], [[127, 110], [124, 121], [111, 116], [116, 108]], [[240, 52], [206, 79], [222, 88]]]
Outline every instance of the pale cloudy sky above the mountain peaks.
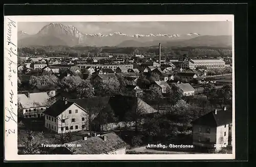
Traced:
[[[18, 31], [28, 34], [38, 33], [51, 22], [18, 22]], [[229, 21], [164, 21], [164, 22], [54, 22], [73, 25], [83, 34], [110, 34], [120, 32], [134, 34], [189, 34], [232, 35], [232, 23]]]

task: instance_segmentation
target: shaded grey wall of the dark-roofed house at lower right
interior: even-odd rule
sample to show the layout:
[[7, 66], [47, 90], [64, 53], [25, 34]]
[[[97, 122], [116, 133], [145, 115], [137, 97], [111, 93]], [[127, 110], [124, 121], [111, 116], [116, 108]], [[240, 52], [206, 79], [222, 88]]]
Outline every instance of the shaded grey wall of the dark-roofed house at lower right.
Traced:
[[[201, 127], [201, 132], [199, 128]], [[210, 128], [210, 133], [206, 133], [206, 129]], [[200, 147], [213, 147], [216, 144], [216, 127], [208, 127], [203, 125], [193, 125], [193, 145]], [[201, 137], [201, 141], [199, 141]], [[207, 143], [207, 138], [210, 139], [210, 142]]]

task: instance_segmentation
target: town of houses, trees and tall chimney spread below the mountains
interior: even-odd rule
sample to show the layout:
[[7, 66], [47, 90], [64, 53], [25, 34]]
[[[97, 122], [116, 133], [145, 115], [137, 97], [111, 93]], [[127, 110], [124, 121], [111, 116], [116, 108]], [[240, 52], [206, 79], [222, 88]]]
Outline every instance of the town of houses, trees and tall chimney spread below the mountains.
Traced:
[[161, 54], [20, 57], [18, 153], [232, 152], [230, 57]]

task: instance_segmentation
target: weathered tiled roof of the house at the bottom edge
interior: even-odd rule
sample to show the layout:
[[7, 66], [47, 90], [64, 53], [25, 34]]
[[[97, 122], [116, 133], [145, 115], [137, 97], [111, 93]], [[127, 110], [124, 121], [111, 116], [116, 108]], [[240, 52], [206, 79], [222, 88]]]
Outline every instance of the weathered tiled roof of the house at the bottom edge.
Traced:
[[[103, 140], [106, 136], [106, 141]], [[73, 154], [108, 154], [129, 147], [116, 133], [106, 133], [100, 136], [88, 137], [87, 141], [78, 140], [67, 144], [79, 144], [82, 147], [69, 148]]]

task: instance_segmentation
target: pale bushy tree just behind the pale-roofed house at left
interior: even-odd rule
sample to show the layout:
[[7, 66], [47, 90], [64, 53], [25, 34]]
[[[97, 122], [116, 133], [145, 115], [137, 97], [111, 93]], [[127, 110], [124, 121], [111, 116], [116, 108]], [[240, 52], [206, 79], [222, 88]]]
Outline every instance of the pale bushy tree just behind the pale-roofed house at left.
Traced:
[[29, 84], [34, 87], [39, 86], [57, 86], [58, 78], [55, 75], [41, 75], [41, 76], [31, 76]]

